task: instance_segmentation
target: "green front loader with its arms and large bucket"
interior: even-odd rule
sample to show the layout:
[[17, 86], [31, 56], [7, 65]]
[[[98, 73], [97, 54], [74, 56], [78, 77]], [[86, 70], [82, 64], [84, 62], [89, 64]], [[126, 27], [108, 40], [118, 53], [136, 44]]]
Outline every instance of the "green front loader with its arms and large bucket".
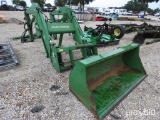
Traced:
[[[63, 17], [56, 20], [57, 14]], [[139, 57], [138, 44], [98, 55], [97, 47], [105, 46], [101, 43], [102, 38], [84, 35], [69, 7], [50, 13], [50, 19], [47, 19], [39, 5], [33, 3], [25, 11], [25, 19], [31, 41], [34, 41], [32, 24], [36, 21], [36, 30], [54, 68], [61, 72], [73, 67], [69, 88], [96, 118], [103, 118], [113, 110], [147, 76]], [[62, 45], [65, 33], [72, 34], [75, 45]], [[58, 44], [52, 40], [52, 37], [57, 38], [57, 34], [60, 34]], [[75, 61], [72, 52], [76, 49], [80, 49], [82, 60]], [[63, 61], [63, 52], [69, 53], [70, 65]]]

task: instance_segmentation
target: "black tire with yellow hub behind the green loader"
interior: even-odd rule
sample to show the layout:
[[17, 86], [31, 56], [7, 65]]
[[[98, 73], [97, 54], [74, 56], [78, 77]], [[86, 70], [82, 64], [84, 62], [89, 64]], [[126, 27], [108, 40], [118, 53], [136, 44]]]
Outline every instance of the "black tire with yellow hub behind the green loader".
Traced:
[[124, 36], [124, 33], [125, 33], [124, 28], [121, 25], [116, 25], [112, 29], [112, 34], [114, 34], [117, 39], [121, 39]]

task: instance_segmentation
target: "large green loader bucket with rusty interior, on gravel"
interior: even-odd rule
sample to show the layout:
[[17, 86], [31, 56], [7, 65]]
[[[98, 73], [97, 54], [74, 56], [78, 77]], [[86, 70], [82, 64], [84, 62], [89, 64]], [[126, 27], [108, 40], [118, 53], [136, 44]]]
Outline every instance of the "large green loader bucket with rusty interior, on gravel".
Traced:
[[96, 118], [103, 118], [145, 77], [139, 45], [133, 43], [77, 61], [69, 77], [69, 87]]

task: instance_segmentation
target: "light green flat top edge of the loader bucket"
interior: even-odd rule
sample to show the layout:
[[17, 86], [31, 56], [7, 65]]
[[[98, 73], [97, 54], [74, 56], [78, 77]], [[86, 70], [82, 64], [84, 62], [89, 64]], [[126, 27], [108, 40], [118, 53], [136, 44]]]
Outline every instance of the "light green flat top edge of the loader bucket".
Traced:
[[77, 61], [77, 62], [80, 62], [80, 63], [84, 64], [85, 66], [87, 66], [89, 64], [94, 64], [98, 60], [103, 61], [104, 59], [109, 59], [110, 57], [116, 56], [116, 55], [121, 54], [121, 53], [125, 53], [125, 52], [127, 52], [129, 50], [132, 50], [132, 49], [135, 49], [139, 46], [140, 45], [137, 44], [137, 43], [132, 43], [130, 45], [120, 47], [116, 50], [113, 50], [113, 51], [110, 51], [110, 52], [107, 52], [107, 53], [103, 53], [103, 54], [100, 54], [100, 55], [96, 55], [96, 56], [91, 56], [89, 58], [86, 58], [86, 59], [83, 59], [83, 60], [80, 60], [80, 61]]

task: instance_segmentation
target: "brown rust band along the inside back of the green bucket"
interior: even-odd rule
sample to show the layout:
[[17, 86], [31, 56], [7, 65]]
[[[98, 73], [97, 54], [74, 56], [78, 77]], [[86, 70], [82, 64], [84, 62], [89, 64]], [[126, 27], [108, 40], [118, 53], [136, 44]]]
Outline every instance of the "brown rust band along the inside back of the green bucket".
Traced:
[[[140, 71], [133, 69], [133, 68], [130, 68], [130, 67], [123, 64], [123, 65], [114, 67], [111, 71], [103, 74], [101, 77], [97, 78], [96, 80], [89, 80], [90, 82], [88, 83], [88, 87], [90, 90], [94, 90], [96, 87], [103, 84], [103, 82], [107, 78], [109, 78], [111, 76], [115, 76], [115, 75], [121, 75], [125, 72], [141, 73]], [[118, 83], [115, 83], [115, 84], [118, 84]]]

